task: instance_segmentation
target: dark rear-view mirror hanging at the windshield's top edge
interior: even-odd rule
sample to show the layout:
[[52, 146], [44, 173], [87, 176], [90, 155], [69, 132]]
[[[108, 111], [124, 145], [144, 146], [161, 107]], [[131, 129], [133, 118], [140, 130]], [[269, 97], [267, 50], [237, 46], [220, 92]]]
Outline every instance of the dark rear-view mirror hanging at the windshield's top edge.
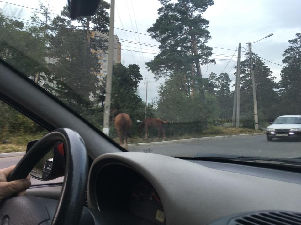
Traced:
[[68, 0], [71, 19], [80, 16], [92, 16], [99, 5], [100, 0]]

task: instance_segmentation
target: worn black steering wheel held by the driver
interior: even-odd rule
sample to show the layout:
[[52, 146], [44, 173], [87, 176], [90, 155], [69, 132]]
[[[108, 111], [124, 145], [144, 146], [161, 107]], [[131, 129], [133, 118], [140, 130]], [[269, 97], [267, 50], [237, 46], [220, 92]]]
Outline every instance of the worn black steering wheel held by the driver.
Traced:
[[51, 215], [52, 225], [79, 223], [87, 188], [88, 157], [76, 131], [60, 128], [45, 135], [29, 149], [7, 180], [26, 178], [40, 159], [60, 143], [65, 148], [66, 169], [59, 201], [26, 195], [8, 198], [0, 206], [0, 224], [49, 224]]

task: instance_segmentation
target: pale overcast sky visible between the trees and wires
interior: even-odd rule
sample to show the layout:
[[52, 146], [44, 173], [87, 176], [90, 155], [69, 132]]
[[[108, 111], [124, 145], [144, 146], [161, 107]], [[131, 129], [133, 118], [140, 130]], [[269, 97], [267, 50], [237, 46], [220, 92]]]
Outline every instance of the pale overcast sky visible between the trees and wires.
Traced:
[[[38, 0], [6, 1], [38, 8]], [[52, 12], [60, 14], [66, 2], [64, 0], [51, 0]], [[22, 7], [0, 2], [0, 8], [4, 8], [4, 12], [13, 12], [14, 10], [19, 12], [19, 9]], [[147, 34], [147, 28], [158, 18], [158, 8], [160, 8], [160, 3], [156, 0], [116, 0], [114, 27], [137, 32], [137, 23], [138, 32]], [[235, 70], [231, 68], [235, 61], [230, 61], [227, 65], [228, 61], [220, 59], [229, 60], [234, 51], [219, 48], [236, 49], [239, 42], [242, 44], [242, 47], [246, 47], [247, 42], [257, 41], [270, 33], [274, 35], [252, 45], [253, 51], [262, 58], [283, 64], [281, 62], [283, 60], [282, 54], [288, 47], [288, 40], [294, 39], [295, 34], [301, 32], [300, 8], [301, 0], [214, 0], [214, 5], [208, 8], [203, 17], [210, 21], [209, 32], [212, 39], [208, 42], [208, 45], [214, 47], [212, 58], [218, 60], [216, 60], [215, 65], [211, 64], [201, 68], [203, 77], [208, 77], [211, 72], [219, 74], [224, 70], [226, 73], [230, 71], [229, 76], [232, 78]], [[32, 9], [23, 7], [19, 16], [23, 19], [29, 19], [32, 13]], [[159, 43], [152, 40], [150, 36], [140, 34], [138, 37], [133, 32], [124, 32], [119, 29], [114, 29], [114, 34], [123, 39], [120, 40], [122, 49], [141, 51], [140, 48], [142, 48], [142, 51], [145, 52], [138, 53], [121, 50], [121, 60], [124, 60], [125, 65], [136, 63], [140, 66], [140, 73], [143, 75], [144, 80], [139, 85], [139, 93], [144, 101], [146, 92], [144, 83], [146, 78], [149, 79], [148, 102], [150, 102], [151, 99], [157, 97], [157, 87], [164, 82], [164, 79], [156, 82], [153, 74], [145, 69], [144, 62], [152, 60], [155, 56], [153, 53], [158, 53], [158, 48], [143, 45], [137, 46], [136, 44], [129, 44], [123, 41], [137, 41], [152, 45], [159, 45]], [[230, 57], [216, 54], [226, 54], [230, 55]], [[236, 57], [237, 52], [232, 60], [235, 60]], [[267, 61], [264, 62], [272, 70], [273, 75], [277, 77], [277, 81], [279, 81], [282, 67]], [[226, 65], [227, 67], [225, 68]]]

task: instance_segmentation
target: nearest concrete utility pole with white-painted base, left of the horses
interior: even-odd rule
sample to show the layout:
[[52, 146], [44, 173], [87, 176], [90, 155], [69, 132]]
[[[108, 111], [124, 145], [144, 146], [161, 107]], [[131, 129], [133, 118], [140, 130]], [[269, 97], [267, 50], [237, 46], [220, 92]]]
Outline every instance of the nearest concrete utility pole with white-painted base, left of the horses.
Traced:
[[108, 47], [108, 73], [106, 79], [106, 97], [105, 97], [104, 113], [103, 113], [103, 133], [105, 133], [106, 135], [109, 135], [110, 132], [110, 108], [111, 108], [113, 47], [114, 47], [114, 8], [115, 8], [114, 4], [115, 4], [115, 0], [111, 0], [109, 47]]

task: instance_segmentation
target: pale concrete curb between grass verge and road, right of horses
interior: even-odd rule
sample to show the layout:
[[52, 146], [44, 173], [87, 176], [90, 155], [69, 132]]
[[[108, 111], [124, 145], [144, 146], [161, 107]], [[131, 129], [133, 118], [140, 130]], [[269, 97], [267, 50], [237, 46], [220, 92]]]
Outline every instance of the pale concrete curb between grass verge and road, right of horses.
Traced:
[[253, 134], [235, 134], [235, 135], [224, 135], [224, 136], [214, 136], [214, 137], [202, 137], [202, 138], [189, 138], [189, 139], [179, 139], [179, 140], [171, 140], [171, 141], [161, 141], [161, 142], [148, 142], [148, 143], [138, 143], [138, 144], [128, 144], [131, 146], [151, 146], [151, 145], [164, 145], [164, 144], [172, 144], [179, 142], [191, 142], [191, 141], [203, 141], [203, 140], [214, 140], [214, 139], [226, 139], [233, 137], [241, 137], [241, 136], [257, 136], [264, 135], [265, 133], [253, 133]]

